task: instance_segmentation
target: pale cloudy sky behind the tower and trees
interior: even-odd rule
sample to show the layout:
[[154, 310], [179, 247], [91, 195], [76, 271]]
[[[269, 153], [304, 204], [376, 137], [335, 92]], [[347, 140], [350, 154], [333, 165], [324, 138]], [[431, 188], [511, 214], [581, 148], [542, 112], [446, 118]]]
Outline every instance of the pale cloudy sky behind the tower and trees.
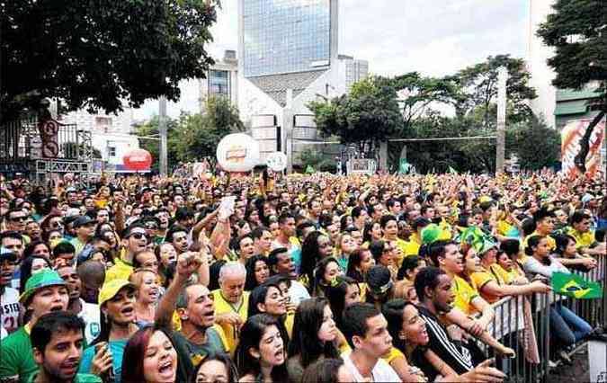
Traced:
[[[524, 58], [531, 0], [340, 0], [339, 53], [369, 61], [370, 73], [396, 76], [418, 71], [444, 76], [510, 54]], [[237, 0], [222, 0], [209, 51], [222, 58], [237, 50]], [[197, 112], [198, 82], [183, 81], [179, 102], [167, 113]], [[157, 114], [158, 102], [134, 111], [136, 120]]]

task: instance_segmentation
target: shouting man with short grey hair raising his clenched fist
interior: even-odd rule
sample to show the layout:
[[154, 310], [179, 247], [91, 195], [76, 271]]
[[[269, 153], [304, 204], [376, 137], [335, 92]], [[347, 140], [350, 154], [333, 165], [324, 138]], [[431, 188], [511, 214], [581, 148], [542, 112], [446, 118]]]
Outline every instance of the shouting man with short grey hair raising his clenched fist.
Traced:
[[191, 283], [202, 260], [199, 254], [189, 252], [179, 257], [174, 280], [156, 309], [156, 325], [172, 329], [176, 307], [181, 330], [173, 333], [178, 347], [187, 350], [192, 365], [218, 352], [228, 352], [223, 329], [215, 324], [215, 304], [209, 289], [201, 283]]

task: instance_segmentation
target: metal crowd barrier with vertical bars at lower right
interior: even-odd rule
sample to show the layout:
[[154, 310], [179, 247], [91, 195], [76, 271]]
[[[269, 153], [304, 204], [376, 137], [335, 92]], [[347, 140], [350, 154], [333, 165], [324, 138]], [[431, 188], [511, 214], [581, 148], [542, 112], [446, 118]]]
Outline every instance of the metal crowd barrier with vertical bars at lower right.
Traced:
[[[504, 371], [510, 382], [546, 382], [549, 377], [549, 360], [554, 360], [554, 336], [550, 334], [550, 307], [563, 305], [584, 319], [593, 328], [607, 329], [607, 256], [596, 258], [597, 267], [590, 272], [575, 272], [587, 281], [603, 286], [603, 298], [574, 299], [551, 292], [529, 297], [508, 297], [494, 305], [495, 318], [489, 332], [500, 343], [516, 351], [515, 359], [501, 358], [491, 349], [495, 366]], [[581, 341], [580, 343], [584, 343]], [[575, 344], [574, 349], [581, 344]], [[551, 348], [552, 347], [552, 348]], [[535, 352], [537, 350], [537, 352]]]

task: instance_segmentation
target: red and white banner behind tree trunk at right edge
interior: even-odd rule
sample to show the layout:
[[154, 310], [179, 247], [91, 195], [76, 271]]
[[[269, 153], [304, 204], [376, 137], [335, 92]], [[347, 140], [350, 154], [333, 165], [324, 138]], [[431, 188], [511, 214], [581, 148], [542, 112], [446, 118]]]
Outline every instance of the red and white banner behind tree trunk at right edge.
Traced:
[[[574, 159], [580, 150], [580, 139], [584, 137], [586, 127], [592, 120], [574, 120], [567, 122], [567, 125], [561, 130], [561, 162], [563, 174], [574, 177], [579, 171], [576, 168]], [[594, 175], [601, 165], [601, 148], [605, 132], [605, 120], [600, 121], [590, 136], [590, 150], [586, 156], [586, 171], [589, 175]]]

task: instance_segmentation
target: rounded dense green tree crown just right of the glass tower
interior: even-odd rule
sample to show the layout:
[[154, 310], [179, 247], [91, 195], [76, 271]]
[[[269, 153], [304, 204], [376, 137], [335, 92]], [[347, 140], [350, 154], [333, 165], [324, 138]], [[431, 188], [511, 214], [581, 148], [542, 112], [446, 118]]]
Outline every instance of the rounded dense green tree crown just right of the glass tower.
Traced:
[[339, 137], [344, 144], [370, 144], [370, 151], [403, 124], [396, 89], [384, 77], [370, 76], [353, 85], [350, 94], [330, 102], [310, 102], [308, 108], [323, 133]]

